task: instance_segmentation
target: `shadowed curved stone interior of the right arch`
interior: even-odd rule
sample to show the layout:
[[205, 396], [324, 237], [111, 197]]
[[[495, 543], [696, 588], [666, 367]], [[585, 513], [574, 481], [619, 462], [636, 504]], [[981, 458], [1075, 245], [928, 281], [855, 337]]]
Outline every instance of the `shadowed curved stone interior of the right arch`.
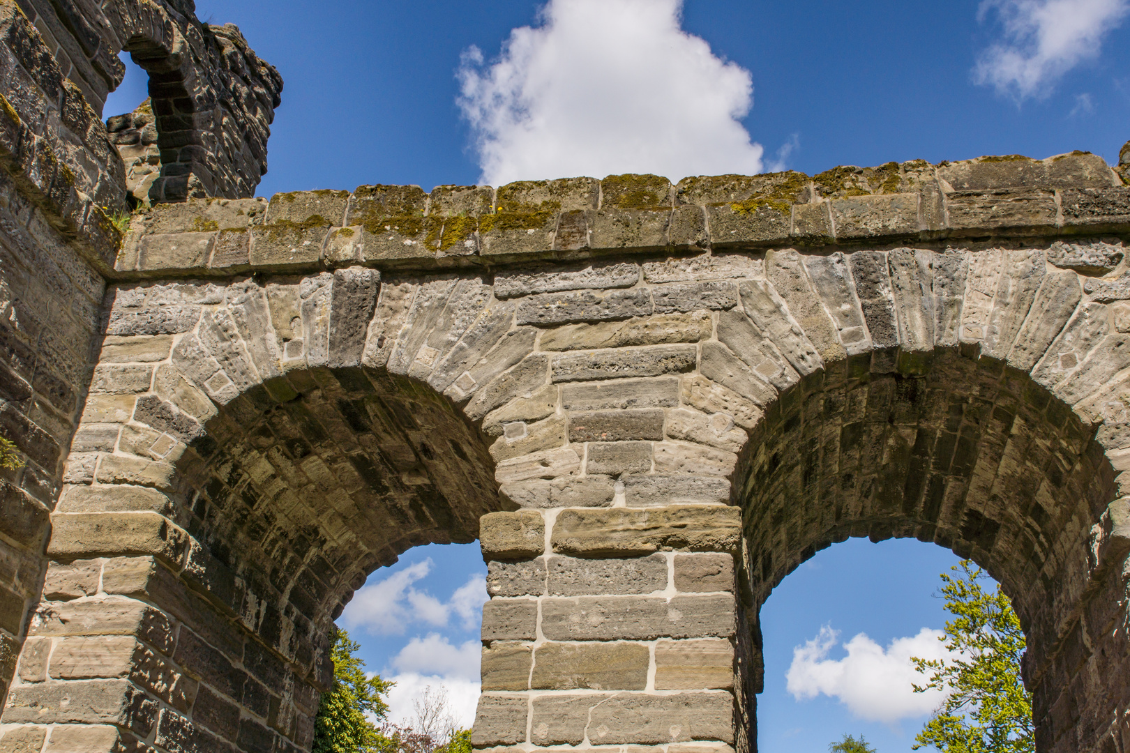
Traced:
[[1086, 614], [1088, 539], [1115, 498], [1095, 427], [994, 359], [938, 350], [915, 376], [855, 366], [784, 393], [739, 463], [755, 655], [756, 611], [818, 550], [850, 536], [933, 542], [976, 561], [1012, 599], [1037, 747], [1052, 750], [1080, 715], [1104, 712], [1083, 686], [1083, 663], [1099, 650], [1084, 633], [1111, 631], [1086, 624], [1097, 621]]

